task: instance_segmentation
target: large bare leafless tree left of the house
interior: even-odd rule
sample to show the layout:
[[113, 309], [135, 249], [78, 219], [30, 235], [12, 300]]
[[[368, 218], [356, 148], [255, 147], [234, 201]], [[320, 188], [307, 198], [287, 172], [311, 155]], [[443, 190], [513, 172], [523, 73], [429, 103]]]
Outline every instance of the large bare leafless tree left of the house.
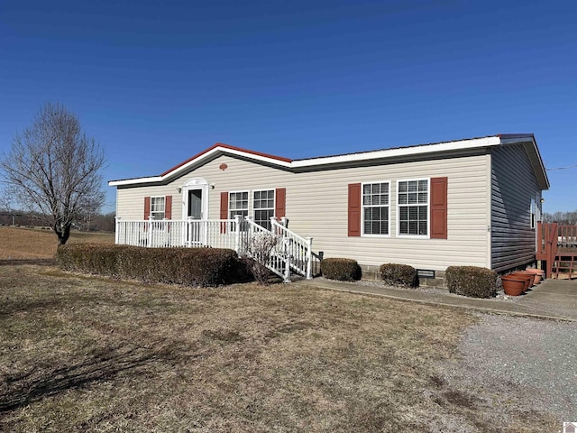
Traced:
[[41, 106], [32, 125], [14, 136], [0, 169], [12, 197], [45, 221], [66, 244], [83, 213], [102, 207], [105, 153], [87, 137], [78, 117], [60, 104]]

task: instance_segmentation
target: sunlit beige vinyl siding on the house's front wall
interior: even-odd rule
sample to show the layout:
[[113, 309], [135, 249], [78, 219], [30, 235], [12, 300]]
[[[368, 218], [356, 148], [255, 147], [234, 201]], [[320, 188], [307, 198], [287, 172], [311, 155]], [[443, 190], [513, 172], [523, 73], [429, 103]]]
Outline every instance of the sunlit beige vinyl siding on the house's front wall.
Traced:
[[[226, 170], [219, 168], [223, 163]], [[437, 271], [456, 264], [487, 266], [489, 171], [487, 154], [306, 172], [221, 155], [166, 186], [119, 188], [117, 215], [140, 219], [144, 196], [171, 194], [172, 215], [179, 219], [182, 198], [177, 188], [194, 178], [215, 186], [208, 189], [208, 218], [213, 219], [219, 217], [222, 191], [286, 188], [289, 228], [313, 237], [314, 251], [323, 251], [325, 257], [348, 257], [368, 265], [406, 263]], [[448, 238], [399, 237], [397, 181], [444, 176], [448, 177]], [[347, 236], [348, 184], [377, 181], [389, 181], [390, 185], [390, 236]], [[250, 207], [252, 215], [252, 199]]]

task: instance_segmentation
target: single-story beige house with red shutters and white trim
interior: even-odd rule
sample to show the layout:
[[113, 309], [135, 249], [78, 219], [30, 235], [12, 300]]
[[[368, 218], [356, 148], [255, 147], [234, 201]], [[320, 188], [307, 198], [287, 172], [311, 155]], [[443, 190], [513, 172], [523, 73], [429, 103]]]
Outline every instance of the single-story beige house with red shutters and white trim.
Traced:
[[366, 274], [405, 263], [437, 275], [451, 265], [507, 272], [534, 262], [549, 189], [533, 134], [300, 160], [216, 143], [158, 176], [108, 184], [118, 221], [133, 230], [119, 234], [117, 223], [117, 243], [148, 236], [154, 246], [147, 221], [163, 221], [165, 236], [172, 230], [165, 244], [194, 246], [198, 235], [177, 221], [220, 222], [211, 236], [222, 238], [235, 230], [224, 221], [237, 215], [269, 230], [270, 217], [285, 217], [315, 253], [355, 259]]

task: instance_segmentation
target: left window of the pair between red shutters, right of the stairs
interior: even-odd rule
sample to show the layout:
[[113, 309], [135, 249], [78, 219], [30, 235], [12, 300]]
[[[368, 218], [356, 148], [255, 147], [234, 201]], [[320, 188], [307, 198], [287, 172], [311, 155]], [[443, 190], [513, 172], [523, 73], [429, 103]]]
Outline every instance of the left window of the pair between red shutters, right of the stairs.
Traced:
[[362, 235], [389, 235], [389, 182], [362, 184]]

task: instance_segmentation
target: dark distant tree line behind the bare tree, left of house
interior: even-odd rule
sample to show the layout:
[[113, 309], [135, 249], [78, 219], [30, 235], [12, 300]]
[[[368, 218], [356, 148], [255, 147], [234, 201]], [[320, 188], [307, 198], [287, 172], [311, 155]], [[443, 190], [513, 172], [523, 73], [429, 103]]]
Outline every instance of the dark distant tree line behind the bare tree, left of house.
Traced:
[[[46, 226], [46, 219], [46, 216], [36, 212], [0, 208], [0, 225], [2, 226]], [[72, 222], [72, 228], [83, 232], [114, 232], [114, 212], [79, 215]]]

